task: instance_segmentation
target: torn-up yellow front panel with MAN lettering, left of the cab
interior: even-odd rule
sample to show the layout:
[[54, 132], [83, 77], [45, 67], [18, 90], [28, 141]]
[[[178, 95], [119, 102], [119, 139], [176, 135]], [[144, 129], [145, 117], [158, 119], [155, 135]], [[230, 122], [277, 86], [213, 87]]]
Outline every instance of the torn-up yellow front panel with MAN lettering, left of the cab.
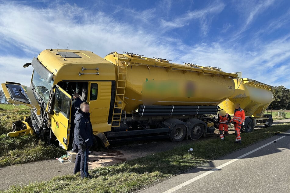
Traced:
[[30, 108], [36, 108], [38, 111], [40, 106], [34, 97], [32, 88], [16, 82], [2, 83], [2, 89], [7, 99], [11, 104], [23, 104]]

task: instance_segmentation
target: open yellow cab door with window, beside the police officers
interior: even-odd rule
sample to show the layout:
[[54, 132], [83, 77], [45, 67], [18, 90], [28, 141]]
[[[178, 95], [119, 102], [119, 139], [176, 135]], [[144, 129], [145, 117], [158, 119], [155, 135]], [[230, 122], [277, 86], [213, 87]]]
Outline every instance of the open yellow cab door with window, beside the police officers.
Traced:
[[51, 95], [54, 102], [51, 103], [51, 130], [59, 140], [59, 145], [67, 149], [70, 141], [70, 112], [71, 96], [58, 85], [53, 86]]

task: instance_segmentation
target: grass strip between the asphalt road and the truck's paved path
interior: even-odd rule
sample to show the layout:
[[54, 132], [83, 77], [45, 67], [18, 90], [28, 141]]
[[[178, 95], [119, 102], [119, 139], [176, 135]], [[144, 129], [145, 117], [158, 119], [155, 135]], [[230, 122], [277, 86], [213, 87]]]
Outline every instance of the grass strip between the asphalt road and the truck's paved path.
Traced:
[[[274, 132], [289, 129], [290, 122], [242, 133], [242, 145], [233, 143], [234, 135], [227, 136], [225, 141], [218, 137], [199, 140], [170, 151], [113, 166], [98, 167], [90, 171], [93, 179], [81, 180], [79, 174], [66, 175], [54, 177], [50, 181], [12, 186], [5, 192], [132, 192], [267, 139], [274, 136]], [[189, 153], [189, 148], [193, 148], [193, 152]]]

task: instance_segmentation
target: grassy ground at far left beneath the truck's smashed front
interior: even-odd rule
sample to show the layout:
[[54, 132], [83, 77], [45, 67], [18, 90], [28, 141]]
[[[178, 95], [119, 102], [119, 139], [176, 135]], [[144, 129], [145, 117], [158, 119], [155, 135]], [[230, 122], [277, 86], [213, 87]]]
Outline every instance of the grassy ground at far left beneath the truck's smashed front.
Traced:
[[52, 159], [66, 153], [64, 149], [45, 145], [31, 135], [7, 136], [12, 131], [12, 123], [29, 114], [30, 109], [24, 105], [0, 104], [0, 167]]

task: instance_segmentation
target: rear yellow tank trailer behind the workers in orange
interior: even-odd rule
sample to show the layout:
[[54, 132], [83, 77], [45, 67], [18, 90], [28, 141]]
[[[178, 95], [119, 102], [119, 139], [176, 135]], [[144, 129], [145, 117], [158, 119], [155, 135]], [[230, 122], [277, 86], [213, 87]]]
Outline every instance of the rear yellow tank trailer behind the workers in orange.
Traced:
[[265, 114], [265, 110], [273, 101], [272, 86], [248, 78], [238, 78], [234, 81], [234, 94], [220, 103], [219, 107], [233, 115], [234, 104], [239, 103], [246, 115], [244, 121], [246, 132], [251, 132], [257, 125], [271, 126], [273, 123], [272, 115]]

